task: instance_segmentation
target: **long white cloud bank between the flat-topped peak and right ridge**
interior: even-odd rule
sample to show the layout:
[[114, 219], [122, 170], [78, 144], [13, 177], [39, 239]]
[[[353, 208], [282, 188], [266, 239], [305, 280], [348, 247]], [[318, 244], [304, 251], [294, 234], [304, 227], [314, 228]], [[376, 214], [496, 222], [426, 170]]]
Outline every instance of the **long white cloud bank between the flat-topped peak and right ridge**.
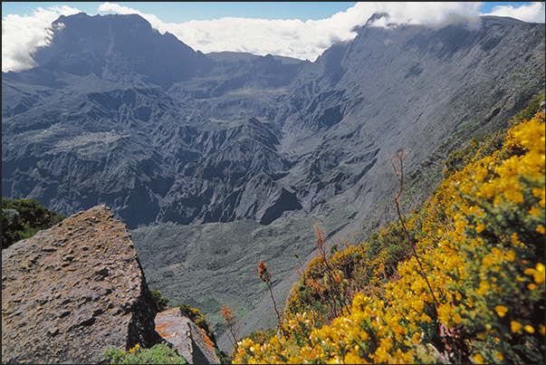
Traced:
[[[480, 3], [357, 3], [328, 19], [265, 20], [225, 17], [216, 20], [163, 23], [153, 14], [143, 14], [127, 6], [104, 3], [101, 12], [139, 14], [160, 33], [169, 32], [203, 53], [232, 51], [309, 59], [314, 61], [332, 43], [354, 39], [356, 25], [366, 24], [376, 12], [389, 14], [388, 23], [434, 24], [449, 14], [478, 16]], [[384, 20], [383, 20], [384, 21]], [[381, 24], [377, 24], [381, 25]]]

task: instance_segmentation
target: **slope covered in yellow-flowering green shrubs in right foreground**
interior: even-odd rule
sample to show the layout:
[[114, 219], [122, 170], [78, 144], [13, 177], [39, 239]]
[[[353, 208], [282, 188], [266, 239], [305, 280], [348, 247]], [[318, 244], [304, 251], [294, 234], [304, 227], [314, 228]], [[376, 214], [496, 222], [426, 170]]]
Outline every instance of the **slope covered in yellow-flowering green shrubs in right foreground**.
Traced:
[[404, 225], [315, 258], [292, 288], [283, 331], [239, 341], [234, 362], [544, 362], [537, 109], [516, 116], [503, 139], [493, 133], [454, 154], [436, 194]]

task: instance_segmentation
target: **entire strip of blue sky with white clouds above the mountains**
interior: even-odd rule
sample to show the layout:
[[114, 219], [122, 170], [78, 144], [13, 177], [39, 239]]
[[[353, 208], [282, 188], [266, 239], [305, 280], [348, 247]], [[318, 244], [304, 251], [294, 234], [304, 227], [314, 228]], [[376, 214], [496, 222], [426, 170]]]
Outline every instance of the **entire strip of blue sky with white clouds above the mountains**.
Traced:
[[385, 27], [480, 15], [544, 23], [545, 7], [541, 2], [2, 2], [2, 71], [35, 67], [32, 55], [51, 42], [51, 24], [80, 12], [139, 14], [159, 33], [174, 34], [203, 53], [271, 53], [313, 62], [331, 44], [354, 39], [353, 28], [376, 12], [388, 13], [373, 24]]

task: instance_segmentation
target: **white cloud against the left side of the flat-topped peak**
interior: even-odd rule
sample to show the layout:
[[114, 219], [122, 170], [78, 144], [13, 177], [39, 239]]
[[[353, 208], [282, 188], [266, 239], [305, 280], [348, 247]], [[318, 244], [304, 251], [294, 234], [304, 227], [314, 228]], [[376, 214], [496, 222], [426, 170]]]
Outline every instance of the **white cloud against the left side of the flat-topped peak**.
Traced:
[[80, 13], [69, 6], [38, 7], [32, 15], [8, 14], [2, 19], [2, 72], [23, 71], [36, 65], [32, 54], [49, 45], [52, 23], [60, 15]]

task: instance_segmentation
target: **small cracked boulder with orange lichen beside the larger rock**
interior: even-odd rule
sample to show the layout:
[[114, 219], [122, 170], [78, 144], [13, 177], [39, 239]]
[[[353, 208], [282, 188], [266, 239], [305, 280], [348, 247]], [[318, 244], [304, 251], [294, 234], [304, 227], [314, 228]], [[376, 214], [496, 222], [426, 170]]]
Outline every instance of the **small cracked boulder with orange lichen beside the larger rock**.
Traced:
[[219, 364], [215, 345], [180, 308], [158, 312], [156, 331], [190, 364]]

